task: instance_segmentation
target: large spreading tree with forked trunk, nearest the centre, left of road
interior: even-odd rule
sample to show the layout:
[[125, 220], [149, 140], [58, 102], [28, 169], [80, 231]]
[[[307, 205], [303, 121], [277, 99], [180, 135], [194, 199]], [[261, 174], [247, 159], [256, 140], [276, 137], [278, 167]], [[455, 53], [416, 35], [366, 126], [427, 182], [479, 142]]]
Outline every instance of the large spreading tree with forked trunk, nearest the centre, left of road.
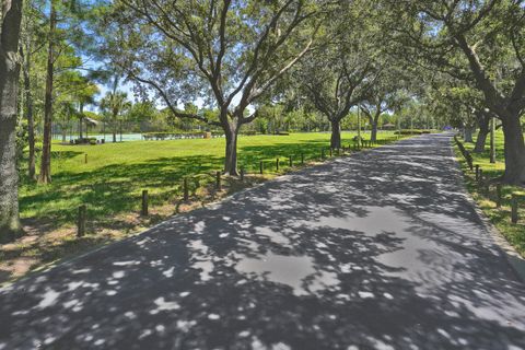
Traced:
[[[224, 173], [236, 175], [238, 131], [257, 117], [246, 110], [308, 52], [319, 4], [117, 0], [106, 16], [107, 54], [173, 115], [220, 126]], [[199, 98], [219, 110], [218, 119], [177, 108]]]

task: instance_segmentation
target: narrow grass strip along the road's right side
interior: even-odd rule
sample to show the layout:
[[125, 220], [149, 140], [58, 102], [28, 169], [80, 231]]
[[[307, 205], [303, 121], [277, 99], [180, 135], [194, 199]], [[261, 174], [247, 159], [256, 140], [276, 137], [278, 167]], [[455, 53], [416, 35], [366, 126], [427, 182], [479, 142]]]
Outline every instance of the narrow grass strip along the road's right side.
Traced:
[[[476, 138], [475, 138], [476, 140]], [[495, 178], [503, 175], [505, 164], [503, 158], [503, 132], [497, 131], [495, 133], [495, 150], [497, 162], [490, 163], [489, 158], [489, 138], [487, 138], [486, 151], [482, 153], [471, 153], [474, 158], [474, 164], [478, 164], [483, 171], [483, 174], [491, 178]], [[472, 151], [474, 143], [465, 143], [465, 148], [468, 151]], [[468, 170], [466, 161], [463, 159], [457, 147], [455, 148], [457, 159], [462, 164], [462, 168], [465, 174], [465, 179], [469, 192], [474, 199], [478, 202], [481, 210], [490, 219], [490, 221], [498, 228], [498, 230], [505, 236], [511, 245], [516, 250], [525, 256], [525, 202], [521, 203], [518, 214], [521, 220], [517, 224], [511, 223], [511, 195], [513, 191], [522, 191], [523, 188], [516, 188], [514, 186], [503, 186], [503, 201], [501, 208], [495, 208], [495, 189], [494, 186], [490, 187], [490, 192], [487, 195], [476, 183], [474, 172]]]

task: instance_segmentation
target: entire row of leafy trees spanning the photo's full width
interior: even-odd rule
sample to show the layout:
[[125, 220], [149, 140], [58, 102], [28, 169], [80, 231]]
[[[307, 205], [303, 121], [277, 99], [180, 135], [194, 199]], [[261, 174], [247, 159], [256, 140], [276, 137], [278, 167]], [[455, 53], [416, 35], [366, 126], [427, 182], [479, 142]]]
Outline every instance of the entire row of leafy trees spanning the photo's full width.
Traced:
[[[281, 106], [287, 118], [323, 115], [332, 148], [357, 110], [372, 139], [385, 110], [467, 130], [477, 122], [477, 151], [495, 117], [502, 180], [525, 182], [521, 0], [0, 0], [0, 9], [1, 240], [20, 230], [16, 140], [27, 138], [28, 179], [49, 183], [52, 124], [82, 118], [101, 84], [100, 110], [112, 119], [127, 106], [127, 82], [161, 116], [222, 128], [230, 175], [242, 127], [279, 120]], [[179, 108], [197, 101], [203, 108]]]

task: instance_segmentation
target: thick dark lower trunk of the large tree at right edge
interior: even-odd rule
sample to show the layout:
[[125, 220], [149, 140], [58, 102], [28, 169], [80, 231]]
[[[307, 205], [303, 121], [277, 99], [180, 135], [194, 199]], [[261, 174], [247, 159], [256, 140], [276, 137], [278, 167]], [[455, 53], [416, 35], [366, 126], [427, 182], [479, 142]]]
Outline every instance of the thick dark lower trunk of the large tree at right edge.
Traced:
[[520, 117], [502, 119], [505, 136], [505, 173], [503, 182], [511, 185], [525, 185], [525, 142]]

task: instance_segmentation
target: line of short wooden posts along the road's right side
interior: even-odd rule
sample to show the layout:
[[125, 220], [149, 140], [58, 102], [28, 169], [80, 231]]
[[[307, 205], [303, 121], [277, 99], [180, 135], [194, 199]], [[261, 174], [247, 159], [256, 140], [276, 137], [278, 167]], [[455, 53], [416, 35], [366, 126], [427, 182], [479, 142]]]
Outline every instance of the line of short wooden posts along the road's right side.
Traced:
[[[468, 167], [471, 172], [475, 173], [476, 184], [480, 189], [480, 192], [487, 196], [490, 199], [490, 187], [491, 185], [495, 188], [495, 208], [501, 208], [502, 200], [503, 200], [503, 185], [499, 183], [492, 183], [490, 177], [483, 173], [483, 170], [479, 166], [479, 164], [474, 164], [472, 155], [465, 149], [465, 145], [454, 136], [454, 140], [457, 144], [457, 148], [462, 152], [463, 156], [467, 161]], [[520, 209], [520, 199], [523, 197], [520, 192], [513, 192], [511, 195], [511, 222], [517, 223], [520, 220], [518, 217], [518, 209]]]

